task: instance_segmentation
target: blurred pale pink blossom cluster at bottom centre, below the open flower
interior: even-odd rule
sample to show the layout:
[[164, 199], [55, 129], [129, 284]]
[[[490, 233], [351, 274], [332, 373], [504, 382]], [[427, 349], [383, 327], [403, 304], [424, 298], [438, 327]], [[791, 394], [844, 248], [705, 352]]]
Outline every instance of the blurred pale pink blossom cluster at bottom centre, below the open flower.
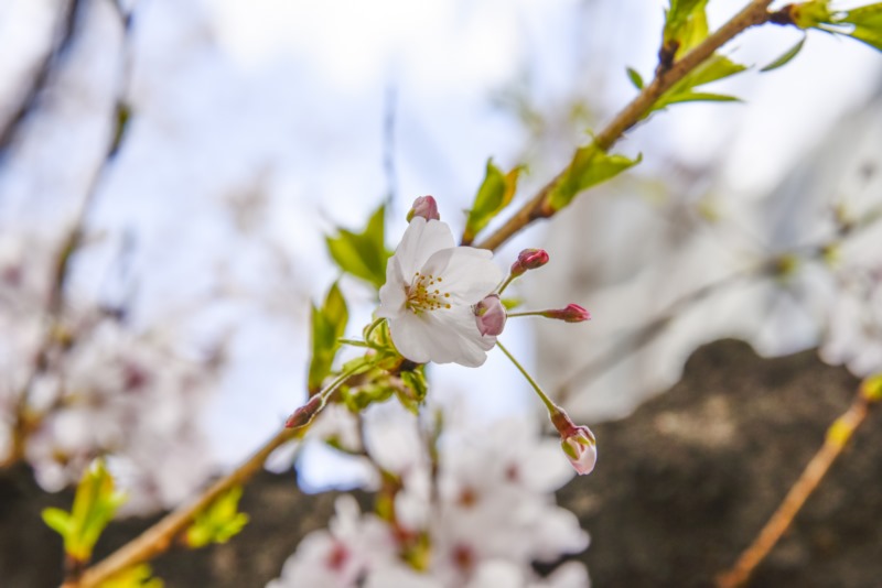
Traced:
[[553, 502], [573, 475], [556, 459], [555, 440], [527, 420], [469, 427], [448, 417], [427, 451], [426, 432], [408, 416], [368, 420], [366, 447], [358, 449], [372, 457], [383, 488], [395, 488], [386, 494], [391, 512], [361, 513], [352, 497], [342, 497], [330, 527], [302, 541], [271, 588], [588, 585], [574, 562], [548, 578], [531, 567], [588, 546], [576, 516]]

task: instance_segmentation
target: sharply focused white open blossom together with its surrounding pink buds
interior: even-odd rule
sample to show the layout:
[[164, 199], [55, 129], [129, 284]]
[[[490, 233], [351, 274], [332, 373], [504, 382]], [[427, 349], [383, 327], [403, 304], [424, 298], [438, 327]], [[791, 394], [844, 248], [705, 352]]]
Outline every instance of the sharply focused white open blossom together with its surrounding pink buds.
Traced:
[[[508, 313], [506, 309], [501, 294], [515, 279], [547, 264], [546, 251], [525, 249], [512, 264], [508, 276], [501, 281], [490, 251], [456, 247], [453, 232], [441, 222], [431, 196], [417, 198], [408, 220], [401, 243], [388, 261], [376, 314], [379, 319], [388, 320], [395, 347], [410, 361], [478, 367], [486, 360], [486, 352], [498, 344], [496, 338], [508, 317], [542, 316], [567, 323], [591, 319], [589, 312], [578, 304], [550, 311]], [[572, 424], [523, 366], [502, 344], [498, 346], [546, 405], [576, 471], [591, 472], [598, 455], [591, 431]], [[289, 426], [297, 420], [295, 413]]]

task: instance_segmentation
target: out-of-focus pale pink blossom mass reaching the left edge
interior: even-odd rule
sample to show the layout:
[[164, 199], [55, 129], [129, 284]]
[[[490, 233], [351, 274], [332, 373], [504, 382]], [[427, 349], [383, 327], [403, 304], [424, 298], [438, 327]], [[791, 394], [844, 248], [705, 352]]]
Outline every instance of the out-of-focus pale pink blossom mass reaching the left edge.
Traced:
[[119, 311], [52, 308], [55, 264], [36, 238], [0, 243], [0, 461], [26, 461], [57, 491], [106, 456], [126, 511], [171, 508], [211, 475], [196, 415], [217, 358], [185, 357], [171, 333], [136, 331]]

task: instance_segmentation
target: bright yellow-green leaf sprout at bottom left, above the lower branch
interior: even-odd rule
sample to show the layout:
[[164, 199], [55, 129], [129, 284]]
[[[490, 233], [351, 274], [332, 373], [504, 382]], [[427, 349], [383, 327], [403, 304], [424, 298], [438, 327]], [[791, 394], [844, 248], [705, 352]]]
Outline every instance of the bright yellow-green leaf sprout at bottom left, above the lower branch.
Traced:
[[43, 521], [64, 537], [64, 552], [71, 558], [86, 563], [101, 532], [125, 501], [125, 494], [116, 491], [104, 460], [96, 459], [83, 472], [71, 512], [45, 509]]

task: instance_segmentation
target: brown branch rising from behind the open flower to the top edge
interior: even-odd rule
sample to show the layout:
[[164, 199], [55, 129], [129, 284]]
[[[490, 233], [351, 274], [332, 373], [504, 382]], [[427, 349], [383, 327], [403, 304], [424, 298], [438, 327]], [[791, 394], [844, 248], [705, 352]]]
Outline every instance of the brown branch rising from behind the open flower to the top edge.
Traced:
[[[731, 41], [738, 34], [767, 22], [771, 13], [767, 8], [772, 0], [753, 0], [741, 12], [732, 17], [725, 24], [718, 29], [713, 34], [696, 46], [692, 51], [675, 62], [669, 68], [662, 70], [653, 78], [643, 90], [622, 109], [612, 121], [594, 135], [594, 144], [601, 150], [606, 151], [619, 141], [625, 131], [639, 122], [653, 108], [653, 105], [681, 80], [686, 75], [708, 59], [713, 53]], [[477, 243], [475, 247], [483, 249], [497, 249], [512, 236], [521, 230], [534, 220], [548, 218], [555, 214], [547, 203], [548, 196], [567, 174], [567, 170], [559, 173], [551, 182], [546, 184], [530, 200], [524, 204], [505, 225], [499, 227], [490, 237]]]

